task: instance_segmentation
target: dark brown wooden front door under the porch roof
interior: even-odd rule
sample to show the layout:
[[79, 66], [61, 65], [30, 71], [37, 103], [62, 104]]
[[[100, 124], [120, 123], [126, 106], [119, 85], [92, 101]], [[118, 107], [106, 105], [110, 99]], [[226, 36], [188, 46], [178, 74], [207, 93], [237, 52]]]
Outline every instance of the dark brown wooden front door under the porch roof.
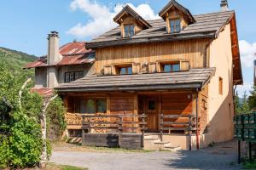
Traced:
[[148, 132], [158, 131], [159, 119], [158, 96], [143, 96], [143, 112], [148, 115]]

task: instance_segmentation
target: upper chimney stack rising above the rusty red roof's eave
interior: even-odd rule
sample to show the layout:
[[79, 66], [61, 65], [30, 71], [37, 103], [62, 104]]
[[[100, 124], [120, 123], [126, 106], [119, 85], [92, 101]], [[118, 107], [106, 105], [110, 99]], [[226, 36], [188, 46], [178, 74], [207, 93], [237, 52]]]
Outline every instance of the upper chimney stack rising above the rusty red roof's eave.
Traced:
[[48, 55], [47, 64], [55, 65], [62, 59], [62, 55], [59, 52], [59, 33], [51, 31], [48, 35]]

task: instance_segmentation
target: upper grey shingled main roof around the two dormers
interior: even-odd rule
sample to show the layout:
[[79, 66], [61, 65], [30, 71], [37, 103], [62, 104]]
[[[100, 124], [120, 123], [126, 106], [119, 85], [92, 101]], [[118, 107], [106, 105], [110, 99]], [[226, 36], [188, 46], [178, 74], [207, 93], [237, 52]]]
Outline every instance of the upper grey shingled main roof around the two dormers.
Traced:
[[130, 38], [121, 37], [120, 27], [107, 31], [100, 37], [96, 37], [87, 42], [87, 48], [103, 48], [109, 46], [119, 46], [142, 42], [165, 42], [196, 38], [215, 38], [218, 32], [227, 25], [235, 11], [225, 11], [211, 14], [194, 15], [196, 22], [186, 26], [179, 33], [167, 34], [165, 20], [148, 20], [152, 26], [146, 30], [138, 32]]

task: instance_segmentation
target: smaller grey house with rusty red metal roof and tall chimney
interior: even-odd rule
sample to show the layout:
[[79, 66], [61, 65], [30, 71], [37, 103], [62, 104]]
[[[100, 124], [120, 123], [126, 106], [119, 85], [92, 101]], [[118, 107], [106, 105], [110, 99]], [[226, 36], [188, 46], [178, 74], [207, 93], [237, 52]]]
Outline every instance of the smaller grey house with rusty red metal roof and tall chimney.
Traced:
[[25, 69], [35, 68], [35, 87], [41, 95], [50, 95], [60, 83], [73, 82], [90, 74], [95, 61], [95, 53], [85, 48], [85, 42], [70, 42], [59, 48], [58, 32], [52, 31], [48, 37], [48, 55], [25, 65]]

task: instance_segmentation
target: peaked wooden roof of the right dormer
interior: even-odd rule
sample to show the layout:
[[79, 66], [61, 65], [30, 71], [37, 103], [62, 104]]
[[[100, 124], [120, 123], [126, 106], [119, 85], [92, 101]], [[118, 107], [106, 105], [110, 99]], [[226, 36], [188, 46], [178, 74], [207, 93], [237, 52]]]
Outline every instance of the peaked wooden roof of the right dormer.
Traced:
[[162, 8], [159, 12], [159, 16], [166, 20], [166, 13], [170, 10], [170, 8], [175, 7], [180, 10], [183, 14], [188, 16], [189, 24], [195, 23], [194, 16], [190, 13], [189, 9], [184, 8], [181, 4], [177, 3], [175, 0], [171, 0], [169, 3], [166, 4], [164, 8]]

